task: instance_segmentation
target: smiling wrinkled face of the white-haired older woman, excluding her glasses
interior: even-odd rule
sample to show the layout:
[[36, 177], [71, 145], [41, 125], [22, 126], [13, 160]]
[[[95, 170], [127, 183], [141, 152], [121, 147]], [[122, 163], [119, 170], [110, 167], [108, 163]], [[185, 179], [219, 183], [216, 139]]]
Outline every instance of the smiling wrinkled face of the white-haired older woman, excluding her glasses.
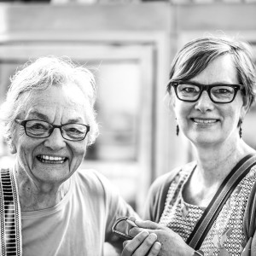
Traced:
[[[33, 91], [19, 119], [38, 119], [54, 125], [79, 123], [86, 119], [84, 94], [75, 84], [52, 86]], [[88, 136], [88, 135], [87, 135]], [[78, 142], [68, 141], [55, 129], [49, 137], [28, 137], [23, 126], [15, 131], [18, 166], [34, 181], [61, 183], [77, 170], [86, 152], [87, 137]]]

